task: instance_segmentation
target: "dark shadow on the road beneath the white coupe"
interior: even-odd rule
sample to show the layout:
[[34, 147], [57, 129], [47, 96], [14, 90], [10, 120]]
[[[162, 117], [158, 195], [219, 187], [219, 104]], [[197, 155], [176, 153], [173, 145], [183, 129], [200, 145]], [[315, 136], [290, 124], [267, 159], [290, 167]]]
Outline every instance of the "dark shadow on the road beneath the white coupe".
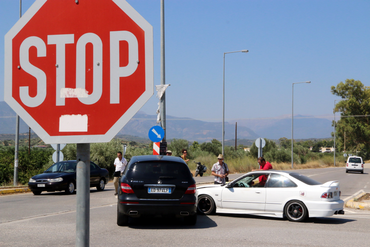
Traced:
[[[277, 221], [289, 221], [287, 218], [275, 218], [275, 217], [268, 217], [268, 216], [258, 216], [252, 214], [219, 214], [220, 216], [225, 217], [235, 217], [235, 218], [254, 218], [254, 219], [261, 219], [261, 220], [277, 220]], [[307, 218], [302, 223], [315, 223], [315, 224], [344, 224], [347, 222], [357, 221], [353, 219], [347, 218], [331, 218], [331, 217], [320, 217], [320, 218]], [[292, 222], [294, 223], [294, 222]]]

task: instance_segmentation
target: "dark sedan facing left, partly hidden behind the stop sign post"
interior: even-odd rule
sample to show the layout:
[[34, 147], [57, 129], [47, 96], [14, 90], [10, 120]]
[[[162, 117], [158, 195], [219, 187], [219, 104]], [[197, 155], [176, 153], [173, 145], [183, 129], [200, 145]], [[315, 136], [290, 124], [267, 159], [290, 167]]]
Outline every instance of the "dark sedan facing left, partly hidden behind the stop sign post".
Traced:
[[[75, 160], [60, 161], [53, 164], [44, 173], [30, 178], [28, 188], [35, 195], [40, 195], [43, 191], [65, 191], [66, 194], [73, 194], [76, 188], [76, 167]], [[104, 190], [105, 184], [109, 181], [107, 169], [100, 168], [97, 164], [90, 161], [90, 187], [97, 190]]]

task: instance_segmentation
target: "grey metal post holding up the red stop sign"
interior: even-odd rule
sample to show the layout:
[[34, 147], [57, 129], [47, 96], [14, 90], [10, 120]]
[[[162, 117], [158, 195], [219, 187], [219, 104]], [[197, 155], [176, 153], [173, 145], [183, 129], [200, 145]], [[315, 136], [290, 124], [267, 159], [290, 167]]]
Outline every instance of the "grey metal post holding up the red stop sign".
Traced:
[[76, 247], [90, 245], [90, 143], [77, 143]]

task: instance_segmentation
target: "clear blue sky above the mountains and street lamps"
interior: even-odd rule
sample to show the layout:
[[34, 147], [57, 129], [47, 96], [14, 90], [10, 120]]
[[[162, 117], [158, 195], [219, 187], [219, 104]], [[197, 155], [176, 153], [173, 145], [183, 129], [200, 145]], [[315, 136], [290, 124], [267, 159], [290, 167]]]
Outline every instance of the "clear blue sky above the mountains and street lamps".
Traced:
[[[82, 1], [82, 0], [81, 0]], [[24, 13], [33, 0], [22, 1]], [[160, 84], [159, 0], [128, 0], [154, 28], [154, 84]], [[166, 113], [225, 118], [333, 113], [330, 86], [347, 78], [369, 86], [369, 1], [165, 1]], [[19, 19], [19, 1], [0, 1], [2, 37]], [[4, 39], [0, 39], [4, 47]], [[0, 49], [0, 100], [4, 49]], [[155, 114], [154, 96], [142, 111]]]

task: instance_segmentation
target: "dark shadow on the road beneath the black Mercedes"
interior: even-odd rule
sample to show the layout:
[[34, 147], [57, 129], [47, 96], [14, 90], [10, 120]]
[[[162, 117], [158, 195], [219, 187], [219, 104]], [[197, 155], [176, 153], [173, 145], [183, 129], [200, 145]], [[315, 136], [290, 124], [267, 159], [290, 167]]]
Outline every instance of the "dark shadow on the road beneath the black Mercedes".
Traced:
[[215, 221], [208, 216], [198, 215], [195, 226], [186, 226], [183, 218], [130, 218], [130, 228], [133, 229], [204, 229], [217, 227]]

